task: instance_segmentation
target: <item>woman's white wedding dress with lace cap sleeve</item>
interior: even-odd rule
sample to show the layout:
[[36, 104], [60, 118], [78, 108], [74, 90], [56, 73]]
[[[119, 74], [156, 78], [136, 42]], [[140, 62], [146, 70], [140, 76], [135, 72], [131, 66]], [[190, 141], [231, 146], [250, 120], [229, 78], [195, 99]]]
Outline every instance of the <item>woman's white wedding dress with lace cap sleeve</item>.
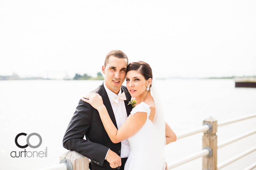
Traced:
[[[130, 155], [124, 165], [124, 170], [162, 170], [161, 165], [156, 163], [159, 159], [158, 152], [154, 150], [156, 128], [153, 122], [148, 118], [150, 115], [150, 106], [141, 102], [131, 111], [131, 115], [137, 112], [146, 112], [147, 119], [145, 124], [133, 136], [128, 138], [130, 143]], [[130, 116], [130, 115], [129, 115]]]

